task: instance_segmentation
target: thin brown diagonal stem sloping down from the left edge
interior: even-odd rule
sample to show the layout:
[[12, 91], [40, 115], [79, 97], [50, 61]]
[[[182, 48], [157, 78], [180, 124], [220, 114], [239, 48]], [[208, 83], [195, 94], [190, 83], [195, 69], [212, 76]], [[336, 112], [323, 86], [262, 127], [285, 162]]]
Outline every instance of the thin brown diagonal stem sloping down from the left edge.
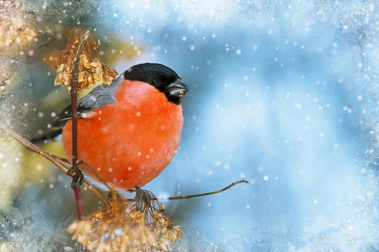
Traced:
[[[45, 159], [47, 159], [50, 162], [52, 162], [61, 171], [63, 171], [64, 174], [66, 174], [67, 176], [71, 176], [72, 177], [72, 172], [70, 172], [70, 170], [65, 165], [63, 165], [63, 163], [61, 163], [58, 160], [56, 160], [55, 157], [53, 157], [51, 154], [45, 152], [43, 149], [41, 149], [38, 146], [34, 145], [33, 143], [31, 143], [27, 139], [23, 138], [22, 136], [20, 136], [19, 134], [17, 134], [16, 132], [14, 132], [13, 130], [11, 130], [9, 127], [5, 126], [2, 123], [0, 123], [0, 129], [2, 129], [3, 131], [7, 132], [13, 138], [15, 138], [17, 141], [19, 141], [29, 151], [33, 151], [33, 152], [41, 155]], [[91, 191], [93, 194], [95, 194], [97, 197], [99, 197], [99, 199], [101, 199], [105, 204], [108, 204], [108, 199], [109, 198], [106, 197], [106, 196], [104, 196], [104, 194], [100, 193], [100, 191], [96, 190], [96, 188], [92, 187], [92, 185], [90, 185], [87, 181], [84, 180], [82, 185], [84, 187], [86, 187], [89, 191]]]

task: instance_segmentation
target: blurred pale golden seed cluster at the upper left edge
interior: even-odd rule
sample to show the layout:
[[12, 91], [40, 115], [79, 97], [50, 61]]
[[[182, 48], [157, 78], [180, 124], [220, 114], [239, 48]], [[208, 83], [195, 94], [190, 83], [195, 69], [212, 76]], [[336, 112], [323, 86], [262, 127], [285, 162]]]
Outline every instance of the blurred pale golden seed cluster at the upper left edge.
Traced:
[[8, 47], [12, 43], [23, 45], [36, 37], [37, 34], [22, 18], [0, 16], [0, 47]]

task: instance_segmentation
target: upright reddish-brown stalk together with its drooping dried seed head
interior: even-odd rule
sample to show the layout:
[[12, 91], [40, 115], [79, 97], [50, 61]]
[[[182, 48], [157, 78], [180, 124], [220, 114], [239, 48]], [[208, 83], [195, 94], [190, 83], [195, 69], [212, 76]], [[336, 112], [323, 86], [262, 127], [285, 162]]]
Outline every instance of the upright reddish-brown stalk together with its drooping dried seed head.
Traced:
[[[95, 51], [96, 47], [100, 45], [100, 40], [96, 43], [89, 34], [89, 31], [73, 27], [67, 34], [69, 35], [66, 48], [61, 52], [59, 60], [55, 65], [58, 68], [56, 71], [58, 74], [55, 77], [54, 86], [63, 83], [71, 96], [72, 165], [74, 167], [74, 177], [72, 178], [71, 185], [74, 189], [78, 219], [81, 220], [83, 218], [83, 209], [81, 205], [80, 185], [78, 185], [79, 172], [76, 165], [78, 158], [77, 91], [92, 88], [95, 82], [101, 81], [100, 75], [102, 75], [105, 84], [110, 84], [112, 79], [116, 78], [117, 72], [113, 68], [103, 65], [100, 59], [91, 57], [88, 39], [91, 41]], [[98, 54], [97, 57], [99, 57]]]

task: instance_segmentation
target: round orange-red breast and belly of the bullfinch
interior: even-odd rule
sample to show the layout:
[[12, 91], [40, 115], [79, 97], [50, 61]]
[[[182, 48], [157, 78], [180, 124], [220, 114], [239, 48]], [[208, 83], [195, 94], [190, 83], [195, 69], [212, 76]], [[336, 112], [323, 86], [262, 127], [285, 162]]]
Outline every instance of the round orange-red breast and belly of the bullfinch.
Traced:
[[[115, 100], [78, 118], [78, 160], [113, 187], [142, 187], [163, 171], [179, 147], [182, 106], [141, 81], [124, 80]], [[62, 142], [72, 162], [72, 120], [63, 128]], [[80, 168], [97, 180], [86, 166]]]

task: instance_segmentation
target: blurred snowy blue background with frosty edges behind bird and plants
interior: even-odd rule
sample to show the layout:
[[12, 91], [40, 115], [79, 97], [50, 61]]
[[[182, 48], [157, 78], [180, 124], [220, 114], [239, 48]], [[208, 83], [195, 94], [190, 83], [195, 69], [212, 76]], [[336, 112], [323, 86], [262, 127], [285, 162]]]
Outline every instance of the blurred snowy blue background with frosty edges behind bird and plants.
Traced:
[[[70, 102], [67, 89], [53, 86], [67, 40], [33, 50], [83, 26], [118, 73], [158, 62], [189, 86], [180, 149], [145, 189], [167, 197], [251, 182], [163, 201], [184, 232], [172, 251], [377, 251], [378, 8], [323, 0], [2, 1], [2, 15], [20, 17], [36, 36], [1, 39], [2, 78], [32, 57], [1, 86], [0, 120], [24, 136], [48, 130]], [[66, 232], [76, 218], [71, 179], [0, 137], [0, 250], [81, 251]], [[64, 155], [59, 141], [41, 147]], [[82, 194], [89, 215], [101, 204]]]

